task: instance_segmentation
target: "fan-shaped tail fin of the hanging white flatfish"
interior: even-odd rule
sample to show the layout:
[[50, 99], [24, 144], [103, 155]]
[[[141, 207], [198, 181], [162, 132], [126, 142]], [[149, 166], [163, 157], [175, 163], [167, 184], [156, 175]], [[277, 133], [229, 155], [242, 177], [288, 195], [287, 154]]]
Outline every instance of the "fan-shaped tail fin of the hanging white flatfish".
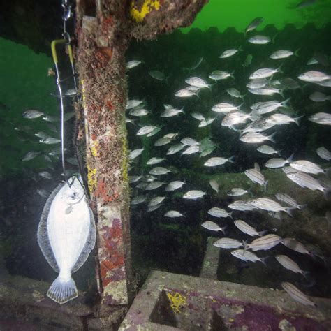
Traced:
[[75, 281], [72, 278], [64, 281], [58, 276], [47, 290], [47, 297], [59, 304], [75, 299], [75, 297], [78, 297]]

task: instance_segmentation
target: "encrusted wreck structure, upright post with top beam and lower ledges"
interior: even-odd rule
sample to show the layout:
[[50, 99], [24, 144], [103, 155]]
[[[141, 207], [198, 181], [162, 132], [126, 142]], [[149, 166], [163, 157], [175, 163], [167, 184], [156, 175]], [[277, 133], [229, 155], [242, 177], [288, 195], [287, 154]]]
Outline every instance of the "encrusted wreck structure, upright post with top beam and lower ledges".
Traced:
[[330, 300], [316, 299], [320, 307], [316, 311], [279, 291], [216, 281], [220, 251], [211, 237], [200, 277], [154, 271], [134, 298], [125, 53], [132, 38], [152, 40], [189, 26], [205, 3], [76, 1], [74, 55], [82, 103], [75, 105], [80, 123], [75, 140], [86, 150], [86, 182], [96, 214], [97, 295], [89, 293], [93, 304], [80, 295], [59, 305], [45, 296], [49, 284], [11, 277], [3, 269], [0, 326], [3, 322], [4, 330], [330, 329]]

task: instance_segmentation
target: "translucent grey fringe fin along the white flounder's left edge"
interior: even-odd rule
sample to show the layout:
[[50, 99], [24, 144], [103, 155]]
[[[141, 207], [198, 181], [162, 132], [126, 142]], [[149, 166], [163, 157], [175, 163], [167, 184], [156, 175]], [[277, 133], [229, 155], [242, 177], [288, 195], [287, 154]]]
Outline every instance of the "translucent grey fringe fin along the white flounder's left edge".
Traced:
[[41, 248], [41, 251], [43, 253], [43, 256], [45, 256], [45, 259], [50, 264], [50, 266], [54, 269], [55, 272], [59, 272], [59, 267], [57, 266], [57, 261], [55, 260], [54, 253], [52, 251], [52, 247], [50, 246], [50, 240], [48, 238], [47, 233], [47, 217], [50, 212], [50, 205], [52, 204], [52, 201], [54, 200], [54, 197], [57, 195], [59, 190], [65, 185], [65, 183], [61, 183], [57, 186], [52, 193], [50, 193], [50, 196], [48, 197], [43, 213], [41, 214], [41, 221], [39, 221], [38, 225], [38, 233], [37, 233], [37, 240], [39, 247]]

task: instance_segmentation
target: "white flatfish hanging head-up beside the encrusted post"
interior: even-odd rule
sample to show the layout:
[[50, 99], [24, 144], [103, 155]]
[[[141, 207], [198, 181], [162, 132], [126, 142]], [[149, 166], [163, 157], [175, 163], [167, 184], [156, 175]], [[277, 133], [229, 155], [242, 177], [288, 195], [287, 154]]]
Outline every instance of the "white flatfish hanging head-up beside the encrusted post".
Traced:
[[71, 274], [87, 260], [96, 242], [94, 216], [76, 177], [60, 184], [45, 203], [38, 226], [38, 244], [47, 262], [59, 272], [47, 297], [59, 304], [78, 297]]

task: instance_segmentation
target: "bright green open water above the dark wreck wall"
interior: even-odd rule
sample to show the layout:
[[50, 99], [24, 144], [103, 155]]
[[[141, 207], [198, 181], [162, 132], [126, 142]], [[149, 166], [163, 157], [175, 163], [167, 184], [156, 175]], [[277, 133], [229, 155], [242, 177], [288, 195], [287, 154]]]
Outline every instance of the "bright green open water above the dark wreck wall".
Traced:
[[182, 29], [187, 32], [193, 28], [206, 31], [216, 27], [220, 32], [234, 27], [238, 32], [244, 31], [247, 24], [256, 17], [264, 17], [258, 31], [267, 24], [274, 24], [283, 29], [286, 24], [301, 28], [304, 24], [313, 23], [323, 27], [330, 22], [331, 6], [329, 0], [319, 0], [314, 6], [295, 9], [300, 3], [295, 0], [209, 0], [190, 27]]

